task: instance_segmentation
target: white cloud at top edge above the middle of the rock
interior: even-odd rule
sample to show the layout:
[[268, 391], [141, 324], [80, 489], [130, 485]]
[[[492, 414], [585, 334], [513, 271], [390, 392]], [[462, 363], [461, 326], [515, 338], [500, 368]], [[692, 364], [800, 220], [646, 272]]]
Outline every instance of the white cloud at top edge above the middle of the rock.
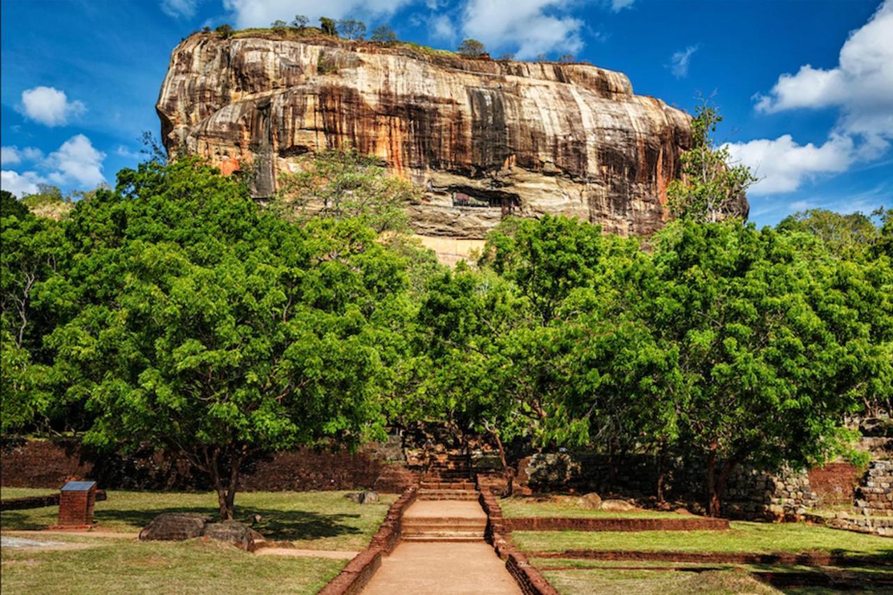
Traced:
[[583, 47], [583, 21], [556, 15], [562, 0], [469, 0], [463, 12], [463, 34], [491, 49], [517, 48], [520, 60], [538, 54], [569, 52]]

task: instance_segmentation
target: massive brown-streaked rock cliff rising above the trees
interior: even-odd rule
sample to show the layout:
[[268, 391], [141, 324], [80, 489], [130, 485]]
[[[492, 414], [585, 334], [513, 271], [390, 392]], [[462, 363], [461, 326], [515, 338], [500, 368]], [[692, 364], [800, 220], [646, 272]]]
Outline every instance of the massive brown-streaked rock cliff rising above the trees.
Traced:
[[379, 155], [425, 189], [414, 229], [455, 239], [480, 239], [505, 214], [658, 229], [690, 142], [686, 113], [633, 95], [619, 72], [330, 38], [193, 35], [156, 108], [169, 151], [252, 172], [258, 197], [297, 155]]

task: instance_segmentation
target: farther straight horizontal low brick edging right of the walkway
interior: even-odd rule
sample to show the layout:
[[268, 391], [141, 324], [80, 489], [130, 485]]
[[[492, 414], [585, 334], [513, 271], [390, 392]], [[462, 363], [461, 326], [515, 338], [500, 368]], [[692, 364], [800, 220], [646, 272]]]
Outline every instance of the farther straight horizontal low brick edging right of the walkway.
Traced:
[[518, 516], [505, 519], [509, 531], [724, 531], [729, 519], [590, 518], [575, 516]]

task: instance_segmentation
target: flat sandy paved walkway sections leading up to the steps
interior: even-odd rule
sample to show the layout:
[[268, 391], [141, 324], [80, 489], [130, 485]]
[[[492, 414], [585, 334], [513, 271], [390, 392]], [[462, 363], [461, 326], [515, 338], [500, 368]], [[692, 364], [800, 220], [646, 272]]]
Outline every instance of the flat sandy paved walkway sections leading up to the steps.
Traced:
[[[412, 518], [486, 519], [474, 501], [419, 500], [406, 509]], [[493, 548], [481, 541], [402, 541], [363, 590], [363, 595], [520, 595], [521, 590]]]

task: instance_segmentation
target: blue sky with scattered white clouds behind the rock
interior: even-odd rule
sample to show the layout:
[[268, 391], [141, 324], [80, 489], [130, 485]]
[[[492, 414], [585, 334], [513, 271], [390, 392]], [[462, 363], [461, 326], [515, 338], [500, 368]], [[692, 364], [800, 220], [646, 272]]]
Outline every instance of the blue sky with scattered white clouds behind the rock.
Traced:
[[159, 134], [154, 102], [180, 38], [296, 13], [388, 23], [430, 46], [571, 53], [689, 111], [714, 94], [719, 138], [761, 178], [759, 225], [893, 207], [893, 0], [4, 0], [4, 189], [113, 183], [138, 163], [142, 131]]

